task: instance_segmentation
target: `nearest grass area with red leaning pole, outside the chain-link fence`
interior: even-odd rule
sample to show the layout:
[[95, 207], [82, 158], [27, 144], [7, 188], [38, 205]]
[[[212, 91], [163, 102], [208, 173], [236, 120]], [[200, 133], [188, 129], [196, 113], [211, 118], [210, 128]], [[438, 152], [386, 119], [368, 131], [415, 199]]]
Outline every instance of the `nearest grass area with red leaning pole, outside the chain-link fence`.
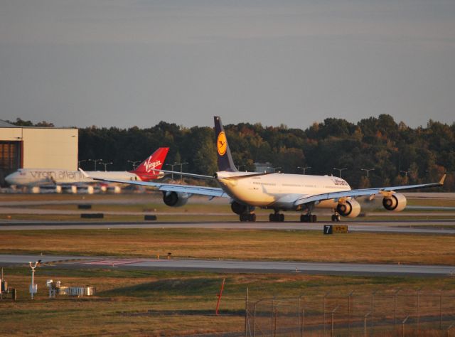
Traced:
[[[29, 299], [30, 269], [5, 268], [6, 279], [18, 289], [18, 301], [0, 302], [2, 336], [186, 336], [243, 331], [245, 291], [250, 301], [272, 296], [338, 296], [355, 291], [390, 289], [455, 290], [453, 279], [405, 277], [328, 277], [280, 274], [210, 274], [147, 272], [121, 269], [74, 270], [41, 267], [36, 271], [38, 294]], [[220, 316], [215, 305], [226, 278]], [[97, 287], [97, 296], [48, 299], [45, 281]]]

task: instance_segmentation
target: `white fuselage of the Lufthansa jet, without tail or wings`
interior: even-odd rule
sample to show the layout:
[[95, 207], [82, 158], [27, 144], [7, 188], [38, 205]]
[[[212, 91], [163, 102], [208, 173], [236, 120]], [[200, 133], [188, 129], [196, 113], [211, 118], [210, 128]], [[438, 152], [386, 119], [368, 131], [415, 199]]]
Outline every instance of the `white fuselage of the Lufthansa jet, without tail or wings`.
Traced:
[[[247, 177], [250, 176], [251, 177]], [[240, 178], [230, 178], [230, 177]], [[245, 176], [245, 178], [243, 178]], [[350, 191], [349, 184], [334, 176], [309, 176], [300, 174], [272, 173], [255, 176], [255, 173], [221, 171], [218, 183], [228, 195], [240, 203], [261, 208], [299, 210], [296, 198], [322, 193]], [[336, 208], [338, 200], [324, 200], [316, 207]]]

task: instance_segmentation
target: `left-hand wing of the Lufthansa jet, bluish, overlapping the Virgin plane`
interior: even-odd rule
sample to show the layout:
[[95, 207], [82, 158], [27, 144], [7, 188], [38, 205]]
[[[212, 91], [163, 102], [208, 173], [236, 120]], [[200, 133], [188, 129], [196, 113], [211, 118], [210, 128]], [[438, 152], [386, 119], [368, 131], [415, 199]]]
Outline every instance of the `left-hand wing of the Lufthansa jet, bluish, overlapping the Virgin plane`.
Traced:
[[[89, 176], [85, 171], [80, 171], [87, 177]], [[210, 197], [223, 197], [230, 198], [228, 194], [219, 187], [205, 187], [205, 186], [192, 186], [192, 185], [178, 185], [174, 183], [152, 183], [151, 181], [131, 181], [131, 180], [116, 180], [116, 179], [105, 179], [105, 178], [92, 178], [97, 181], [108, 181], [110, 183], [129, 183], [131, 185], [146, 186], [146, 187], [156, 187], [159, 191], [165, 192], [181, 192], [181, 193], [191, 193], [197, 194], [198, 196], [210, 196]]]

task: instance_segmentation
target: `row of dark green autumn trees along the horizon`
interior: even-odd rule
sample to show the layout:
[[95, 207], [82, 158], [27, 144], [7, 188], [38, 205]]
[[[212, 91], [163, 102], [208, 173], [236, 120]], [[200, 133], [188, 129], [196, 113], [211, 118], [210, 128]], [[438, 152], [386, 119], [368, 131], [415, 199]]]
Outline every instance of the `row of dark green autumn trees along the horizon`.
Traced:
[[[431, 119], [427, 127], [415, 129], [381, 114], [356, 124], [328, 118], [308, 129], [239, 123], [225, 125], [225, 131], [234, 162], [242, 171], [254, 171], [255, 162], [269, 162], [284, 173], [303, 173], [299, 167], [311, 166], [306, 174], [338, 176], [339, 170], [333, 168], [346, 168], [343, 178], [351, 187], [363, 188], [439, 181], [444, 172], [455, 169], [455, 123]], [[166, 122], [146, 129], [88, 127], [80, 129], [79, 156], [80, 160], [112, 161], [110, 170], [130, 170], [128, 161], [145, 159], [159, 146], [168, 146], [166, 163], [185, 162], [184, 171], [213, 174], [217, 169], [214, 138], [213, 128]], [[90, 162], [81, 166], [93, 169]], [[368, 177], [365, 169], [372, 169]], [[454, 189], [454, 177], [449, 174], [444, 191]]]

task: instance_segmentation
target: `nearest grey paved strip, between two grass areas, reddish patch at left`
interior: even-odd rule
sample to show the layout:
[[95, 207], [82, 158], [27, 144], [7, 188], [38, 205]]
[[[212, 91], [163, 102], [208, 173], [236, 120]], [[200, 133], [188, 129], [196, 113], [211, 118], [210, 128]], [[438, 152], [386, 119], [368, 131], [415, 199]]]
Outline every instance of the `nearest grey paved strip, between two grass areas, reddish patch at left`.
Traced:
[[0, 255], [0, 266], [24, 265], [41, 260], [43, 267], [73, 269], [123, 268], [146, 270], [173, 270], [192, 272], [240, 272], [284, 274], [330, 274], [365, 276], [432, 276], [454, 277], [455, 266], [411, 264], [355, 264], [289, 261], [235, 261], [189, 259], [132, 259], [118, 257], [77, 257], [41, 255]]

